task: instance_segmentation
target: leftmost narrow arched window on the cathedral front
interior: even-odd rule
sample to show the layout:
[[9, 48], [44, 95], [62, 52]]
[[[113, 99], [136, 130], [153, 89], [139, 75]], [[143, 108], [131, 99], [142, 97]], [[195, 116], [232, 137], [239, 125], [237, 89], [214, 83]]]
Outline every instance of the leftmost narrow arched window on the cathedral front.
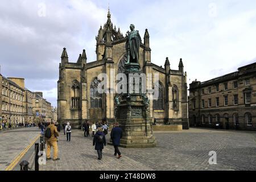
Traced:
[[71, 84], [71, 108], [80, 109], [80, 86], [77, 80]]

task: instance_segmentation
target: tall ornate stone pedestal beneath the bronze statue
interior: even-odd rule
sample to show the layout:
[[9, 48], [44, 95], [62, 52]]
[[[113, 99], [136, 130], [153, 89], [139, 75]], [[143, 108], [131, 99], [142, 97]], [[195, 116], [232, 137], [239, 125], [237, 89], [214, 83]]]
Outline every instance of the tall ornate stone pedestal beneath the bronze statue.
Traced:
[[[129, 73], [140, 74], [138, 65], [135, 65], [135, 68], [132, 65], [127, 67], [129, 67], [125, 72], [127, 78]], [[129, 90], [129, 86], [127, 86], [127, 90]], [[120, 140], [121, 147], [143, 148], [156, 146], [146, 99], [146, 94], [141, 92], [119, 95], [119, 103], [115, 107], [115, 121], [119, 123], [119, 127], [123, 130], [123, 137]]]

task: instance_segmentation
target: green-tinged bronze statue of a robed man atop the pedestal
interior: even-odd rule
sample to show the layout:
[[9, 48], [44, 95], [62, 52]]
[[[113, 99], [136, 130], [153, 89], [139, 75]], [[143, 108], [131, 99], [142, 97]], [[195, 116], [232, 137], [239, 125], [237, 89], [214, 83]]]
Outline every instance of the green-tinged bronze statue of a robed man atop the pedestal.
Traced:
[[134, 24], [131, 24], [131, 32], [128, 34], [128, 38], [125, 44], [127, 52], [126, 64], [139, 63], [139, 46], [141, 45], [141, 36], [139, 35], [139, 31], [134, 30], [134, 28]]

